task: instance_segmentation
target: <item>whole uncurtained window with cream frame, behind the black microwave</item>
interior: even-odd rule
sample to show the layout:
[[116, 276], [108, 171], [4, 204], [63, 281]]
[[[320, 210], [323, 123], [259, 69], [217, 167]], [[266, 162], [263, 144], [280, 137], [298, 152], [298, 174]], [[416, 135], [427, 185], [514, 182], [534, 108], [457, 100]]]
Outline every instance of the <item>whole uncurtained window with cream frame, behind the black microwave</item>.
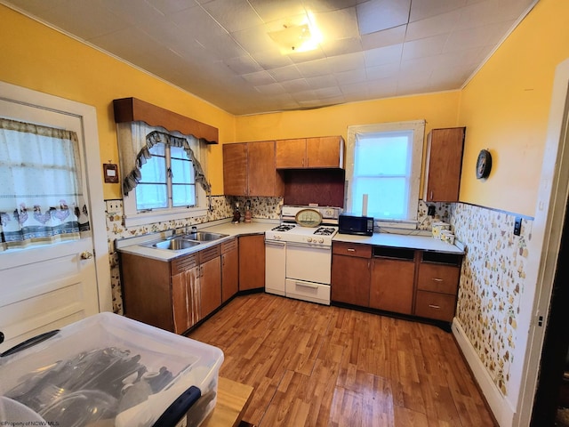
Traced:
[[348, 128], [347, 210], [380, 225], [416, 227], [425, 121]]

